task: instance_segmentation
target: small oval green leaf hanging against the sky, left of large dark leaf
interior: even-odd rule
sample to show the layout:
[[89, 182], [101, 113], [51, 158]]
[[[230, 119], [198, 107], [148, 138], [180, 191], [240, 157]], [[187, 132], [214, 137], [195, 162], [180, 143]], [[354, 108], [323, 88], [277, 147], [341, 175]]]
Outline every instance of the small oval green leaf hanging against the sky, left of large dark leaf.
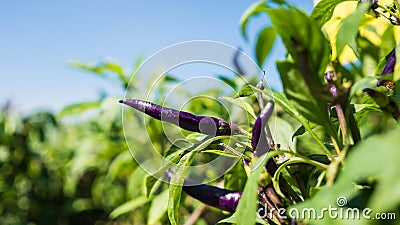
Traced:
[[271, 52], [276, 38], [276, 32], [273, 27], [265, 27], [258, 34], [256, 42], [256, 60], [257, 65], [261, 68], [265, 59]]

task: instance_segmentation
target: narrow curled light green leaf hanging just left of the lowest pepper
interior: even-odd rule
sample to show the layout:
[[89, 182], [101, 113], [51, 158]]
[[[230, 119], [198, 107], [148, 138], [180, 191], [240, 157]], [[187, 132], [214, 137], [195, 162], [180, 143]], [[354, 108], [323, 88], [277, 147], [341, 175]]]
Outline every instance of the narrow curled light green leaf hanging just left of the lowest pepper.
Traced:
[[197, 152], [191, 151], [184, 155], [176, 166], [171, 177], [168, 197], [168, 218], [172, 225], [178, 224], [179, 203], [181, 201], [182, 185], [189, 166]]

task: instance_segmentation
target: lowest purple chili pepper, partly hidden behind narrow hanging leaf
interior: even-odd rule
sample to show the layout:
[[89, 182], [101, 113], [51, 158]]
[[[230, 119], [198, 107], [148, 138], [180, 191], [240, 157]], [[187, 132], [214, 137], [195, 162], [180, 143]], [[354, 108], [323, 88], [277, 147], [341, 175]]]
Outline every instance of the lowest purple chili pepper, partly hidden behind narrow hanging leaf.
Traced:
[[[167, 170], [165, 175], [171, 179], [173, 172]], [[194, 181], [185, 179], [182, 190], [189, 196], [201, 201], [202, 203], [228, 212], [234, 212], [242, 192], [231, 191], [206, 184], [196, 184]]]

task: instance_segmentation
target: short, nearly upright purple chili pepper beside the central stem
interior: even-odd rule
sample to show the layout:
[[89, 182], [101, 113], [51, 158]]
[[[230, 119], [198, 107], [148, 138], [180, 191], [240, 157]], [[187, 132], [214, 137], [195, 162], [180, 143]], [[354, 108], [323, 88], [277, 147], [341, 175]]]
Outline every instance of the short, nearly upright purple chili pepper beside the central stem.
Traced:
[[269, 101], [261, 110], [256, 119], [256, 122], [254, 122], [251, 147], [253, 148], [253, 154], [256, 156], [261, 156], [269, 151], [270, 146], [265, 139], [266, 133], [264, 128], [268, 122], [269, 117], [271, 117], [273, 109], [274, 102]]

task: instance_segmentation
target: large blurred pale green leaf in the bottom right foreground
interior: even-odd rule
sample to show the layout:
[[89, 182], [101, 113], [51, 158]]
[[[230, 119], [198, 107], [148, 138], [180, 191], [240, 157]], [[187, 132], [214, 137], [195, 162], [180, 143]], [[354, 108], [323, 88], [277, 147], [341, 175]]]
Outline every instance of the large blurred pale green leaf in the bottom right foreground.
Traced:
[[[346, 224], [365, 225], [372, 223], [371, 220], [361, 216], [364, 208], [372, 210], [371, 217], [374, 217], [375, 213], [398, 212], [400, 180], [396, 178], [400, 171], [399, 139], [400, 127], [397, 126], [388, 133], [375, 135], [355, 146], [351, 149], [345, 166], [332, 186], [322, 188], [312, 199], [292, 208], [296, 208], [299, 212], [305, 208], [313, 208], [319, 213], [329, 206], [343, 208], [344, 212], [347, 208], [359, 208], [361, 220], [348, 219]], [[346, 198], [347, 204], [344, 207], [338, 207], [336, 201], [339, 197]], [[322, 220], [310, 221], [312, 224], [332, 225], [343, 222], [329, 216], [325, 216]]]

